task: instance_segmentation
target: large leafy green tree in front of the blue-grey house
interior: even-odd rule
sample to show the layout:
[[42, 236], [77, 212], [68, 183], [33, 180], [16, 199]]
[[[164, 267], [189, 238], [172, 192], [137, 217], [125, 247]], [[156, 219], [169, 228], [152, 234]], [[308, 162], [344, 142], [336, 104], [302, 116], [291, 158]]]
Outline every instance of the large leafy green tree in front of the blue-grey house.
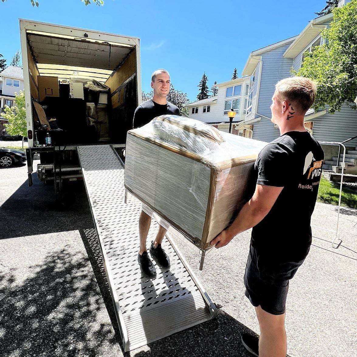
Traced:
[[317, 83], [313, 108], [329, 106], [339, 111], [343, 103], [356, 109], [357, 95], [357, 0], [332, 10], [333, 20], [322, 31], [324, 44], [306, 53], [292, 75], [308, 77]]

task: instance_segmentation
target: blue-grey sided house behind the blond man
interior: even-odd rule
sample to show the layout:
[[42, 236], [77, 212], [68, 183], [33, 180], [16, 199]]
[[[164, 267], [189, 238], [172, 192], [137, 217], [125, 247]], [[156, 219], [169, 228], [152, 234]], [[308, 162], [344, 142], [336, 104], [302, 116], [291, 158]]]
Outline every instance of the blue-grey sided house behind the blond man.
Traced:
[[[340, 1], [345, 5], [348, 1]], [[249, 92], [248, 113], [244, 124], [253, 124], [253, 139], [272, 141], [280, 132], [271, 122], [271, 97], [275, 84], [291, 76], [290, 67], [301, 67], [304, 53], [311, 52], [322, 44], [321, 30], [332, 21], [333, 14], [317, 17], [309, 22], [296, 37], [253, 51], [243, 69], [242, 75], [250, 75], [254, 81]], [[251, 106], [250, 106], [251, 105]], [[328, 109], [328, 108], [326, 108]], [[330, 114], [326, 109], [315, 112], [308, 110], [305, 126], [318, 141], [341, 142], [357, 135], [357, 111], [343, 105], [341, 111]], [[346, 152], [349, 162], [347, 172], [357, 173], [357, 140], [348, 142]], [[324, 169], [332, 170], [337, 165], [338, 147], [324, 145]], [[336, 170], [336, 168], [335, 168]]]

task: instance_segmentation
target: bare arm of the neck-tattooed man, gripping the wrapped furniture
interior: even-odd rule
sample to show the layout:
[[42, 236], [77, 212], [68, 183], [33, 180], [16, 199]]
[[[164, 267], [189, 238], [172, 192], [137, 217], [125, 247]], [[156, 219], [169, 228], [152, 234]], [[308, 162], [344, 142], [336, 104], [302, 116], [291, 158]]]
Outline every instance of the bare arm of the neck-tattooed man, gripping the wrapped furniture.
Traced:
[[227, 245], [237, 234], [257, 225], [271, 210], [283, 187], [256, 185], [253, 197], [243, 206], [237, 218], [211, 244]]

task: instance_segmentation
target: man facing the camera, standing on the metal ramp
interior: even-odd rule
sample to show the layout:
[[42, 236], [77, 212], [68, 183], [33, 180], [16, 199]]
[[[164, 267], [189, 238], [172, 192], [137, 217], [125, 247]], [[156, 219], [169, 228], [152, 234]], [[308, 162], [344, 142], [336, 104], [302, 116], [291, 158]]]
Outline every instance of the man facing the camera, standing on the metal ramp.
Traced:
[[[158, 69], [152, 74], [151, 88], [154, 90], [154, 96], [151, 99], [142, 102], [136, 108], [133, 119], [134, 129], [149, 123], [152, 119], [160, 115], [180, 115], [178, 107], [166, 100], [170, 91], [170, 84], [170, 75], [165, 69]], [[143, 203], [139, 218], [140, 249], [137, 258], [142, 271], [148, 276], [156, 275], [156, 269], [146, 250], [146, 239], [153, 215], [154, 212], [152, 209]], [[155, 241], [151, 242], [150, 253], [162, 267], [169, 267], [169, 257], [161, 247], [161, 242], [169, 228], [169, 223], [160, 217], [156, 218], [159, 223], [159, 231], [157, 232]]]

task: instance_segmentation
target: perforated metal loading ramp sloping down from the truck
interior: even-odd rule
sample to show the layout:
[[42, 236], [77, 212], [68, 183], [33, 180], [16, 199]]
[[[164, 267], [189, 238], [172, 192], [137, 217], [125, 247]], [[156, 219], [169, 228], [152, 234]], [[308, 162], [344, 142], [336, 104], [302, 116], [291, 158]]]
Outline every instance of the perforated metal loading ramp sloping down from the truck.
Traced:
[[[215, 305], [169, 235], [163, 246], [170, 268], [161, 268], [153, 260], [156, 277], [141, 272], [137, 262], [141, 203], [132, 195], [124, 202], [124, 166], [115, 149], [77, 146], [77, 152], [124, 350], [214, 317]], [[157, 223], [151, 226], [148, 244], [157, 232]]]

